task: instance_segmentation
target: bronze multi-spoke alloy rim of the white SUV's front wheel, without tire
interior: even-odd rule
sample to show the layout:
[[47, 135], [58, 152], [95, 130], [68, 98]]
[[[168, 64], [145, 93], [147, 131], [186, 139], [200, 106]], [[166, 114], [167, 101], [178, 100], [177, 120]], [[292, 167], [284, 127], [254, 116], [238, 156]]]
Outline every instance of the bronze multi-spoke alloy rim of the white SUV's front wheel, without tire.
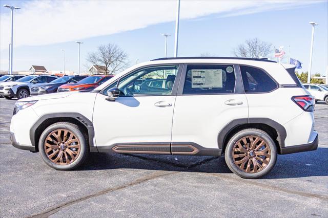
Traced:
[[68, 129], [56, 129], [45, 140], [45, 152], [55, 164], [73, 163], [80, 154], [80, 141]]

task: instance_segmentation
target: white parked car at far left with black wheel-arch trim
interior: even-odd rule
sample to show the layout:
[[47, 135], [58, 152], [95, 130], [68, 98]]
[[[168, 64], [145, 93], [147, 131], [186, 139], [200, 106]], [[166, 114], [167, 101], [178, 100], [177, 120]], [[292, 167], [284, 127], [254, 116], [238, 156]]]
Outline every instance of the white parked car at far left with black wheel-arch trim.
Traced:
[[0, 85], [0, 95], [7, 99], [12, 99], [13, 97], [18, 99], [26, 98], [30, 95], [32, 85], [48, 83], [57, 78], [57, 76], [30, 75], [13, 82], [3, 82]]

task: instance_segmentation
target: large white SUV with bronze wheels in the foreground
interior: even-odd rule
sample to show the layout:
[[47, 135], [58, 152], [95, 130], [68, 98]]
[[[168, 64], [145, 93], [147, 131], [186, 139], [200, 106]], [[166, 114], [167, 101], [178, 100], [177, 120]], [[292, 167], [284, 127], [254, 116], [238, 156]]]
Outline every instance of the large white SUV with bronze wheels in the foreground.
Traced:
[[[140, 81], [165, 79], [165, 86]], [[150, 83], [148, 83], [150, 84]], [[314, 98], [281, 64], [248, 58], [161, 58], [93, 91], [18, 100], [13, 146], [40, 151], [69, 170], [89, 152], [224, 155], [243, 178], [259, 178], [277, 154], [315, 150]]]

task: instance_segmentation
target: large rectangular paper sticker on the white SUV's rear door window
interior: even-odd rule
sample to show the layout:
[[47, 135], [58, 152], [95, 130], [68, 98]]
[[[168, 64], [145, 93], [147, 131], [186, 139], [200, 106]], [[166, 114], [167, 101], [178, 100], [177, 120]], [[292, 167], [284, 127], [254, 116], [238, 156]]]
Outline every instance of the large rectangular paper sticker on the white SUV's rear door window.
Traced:
[[191, 88], [222, 88], [222, 69], [191, 70]]

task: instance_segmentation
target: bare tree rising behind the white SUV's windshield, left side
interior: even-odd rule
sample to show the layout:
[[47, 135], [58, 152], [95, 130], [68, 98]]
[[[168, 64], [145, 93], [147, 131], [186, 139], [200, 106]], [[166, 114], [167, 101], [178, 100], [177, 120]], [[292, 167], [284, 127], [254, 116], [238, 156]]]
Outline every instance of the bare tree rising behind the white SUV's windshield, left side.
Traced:
[[99, 46], [96, 52], [88, 54], [87, 60], [96, 66], [104, 66], [106, 74], [119, 72], [128, 66], [128, 55], [112, 43]]

